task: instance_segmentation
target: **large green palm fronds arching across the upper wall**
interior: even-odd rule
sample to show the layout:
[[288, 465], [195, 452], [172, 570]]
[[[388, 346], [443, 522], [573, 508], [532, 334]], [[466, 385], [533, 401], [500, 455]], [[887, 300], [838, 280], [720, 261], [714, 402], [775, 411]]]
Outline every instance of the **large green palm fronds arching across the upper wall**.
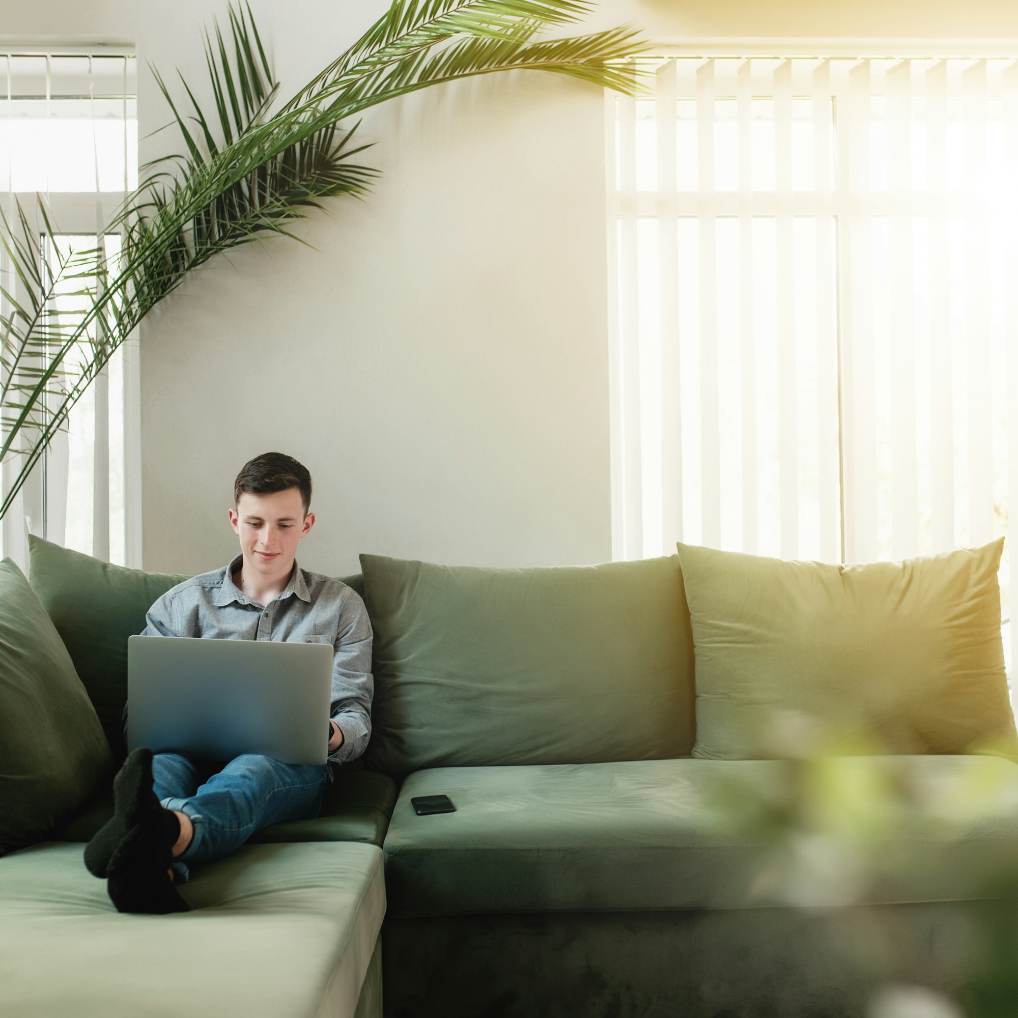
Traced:
[[[0, 243], [13, 272], [0, 287], [0, 463], [16, 474], [0, 518], [74, 403], [113, 351], [187, 273], [230, 248], [290, 227], [326, 197], [362, 195], [378, 171], [353, 161], [362, 111], [445, 81], [505, 70], [544, 70], [633, 95], [641, 51], [629, 27], [542, 40], [578, 20], [587, 0], [394, 0], [345, 53], [286, 102], [249, 6], [229, 8], [229, 31], [206, 37], [215, 112], [206, 115], [180, 77], [177, 99], [153, 68], [184, 151], [148, 175], [105, 225], [100, 243], [62, 251], [42, 199], [39, 225], [0, 212]], [[80, 310], [53, 314], [57, 294]]]

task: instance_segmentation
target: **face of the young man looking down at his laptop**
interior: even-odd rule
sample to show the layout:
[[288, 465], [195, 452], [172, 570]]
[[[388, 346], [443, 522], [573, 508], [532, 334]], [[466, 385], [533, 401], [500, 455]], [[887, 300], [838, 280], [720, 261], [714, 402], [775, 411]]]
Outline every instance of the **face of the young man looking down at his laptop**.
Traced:
[[304, 515], [299, 488], [271, 495], [244, 492], [236, 509], [230, 510], [230, 525], [240, 538], [244, 568], [267, 579], [290, 574], [297, 545], [314, 523], [314, 513]]

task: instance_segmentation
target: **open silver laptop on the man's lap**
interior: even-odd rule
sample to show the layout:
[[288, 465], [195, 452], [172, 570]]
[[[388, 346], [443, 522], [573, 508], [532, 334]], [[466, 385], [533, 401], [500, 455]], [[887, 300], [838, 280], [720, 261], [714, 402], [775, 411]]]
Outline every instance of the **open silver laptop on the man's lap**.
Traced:
[[127, 639], [127, 748], [325, 764], [331, 643], [190, 636]]

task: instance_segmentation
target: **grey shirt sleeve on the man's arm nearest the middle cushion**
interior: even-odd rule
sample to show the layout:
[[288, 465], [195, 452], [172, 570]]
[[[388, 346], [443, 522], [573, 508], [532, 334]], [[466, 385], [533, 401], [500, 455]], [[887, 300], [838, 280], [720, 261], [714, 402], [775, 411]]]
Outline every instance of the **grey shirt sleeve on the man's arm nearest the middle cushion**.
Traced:
[[329, 754], [336, 764], [355, 759], [372, 734], [372, 623], [360, 596], [347, 588], [340, 605], [339, 629], [332, 665], [332, 720], [343, 744]]

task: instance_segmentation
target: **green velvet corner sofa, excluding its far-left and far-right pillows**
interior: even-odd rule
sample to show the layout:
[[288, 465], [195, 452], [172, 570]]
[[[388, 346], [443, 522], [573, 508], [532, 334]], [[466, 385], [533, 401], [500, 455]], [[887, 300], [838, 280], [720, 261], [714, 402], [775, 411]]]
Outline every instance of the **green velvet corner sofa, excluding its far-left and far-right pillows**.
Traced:
[[[126, 637], [179, 577], [31, 551], [122, 755]], [[375, 629], [373, 738], [320, 816], [201, 867], [191, 912], [120, 916], [80, 860], [111, 808], [98, 789], [0, 858], [0, 1013], [170, 1014], [159, 987], [184, 985], [219, 1015], [847, 1016], [884, 984], [977, 982], [986, 876], [1018, 857], [1018, 765], [828, 761], [824, 788], [872, 783], [879, 764], [908, 795], [882, 800], [864, 880], [775, 891], [766, 878], [797, 865], [783, 818], [801, 762], [691, 755], [677, 556], [361, 566], [345, 581]], [[984, 808], [951, 805], [991, 787]], [[411, 797], [439, 793], [456, 811], [417, 816]]]

